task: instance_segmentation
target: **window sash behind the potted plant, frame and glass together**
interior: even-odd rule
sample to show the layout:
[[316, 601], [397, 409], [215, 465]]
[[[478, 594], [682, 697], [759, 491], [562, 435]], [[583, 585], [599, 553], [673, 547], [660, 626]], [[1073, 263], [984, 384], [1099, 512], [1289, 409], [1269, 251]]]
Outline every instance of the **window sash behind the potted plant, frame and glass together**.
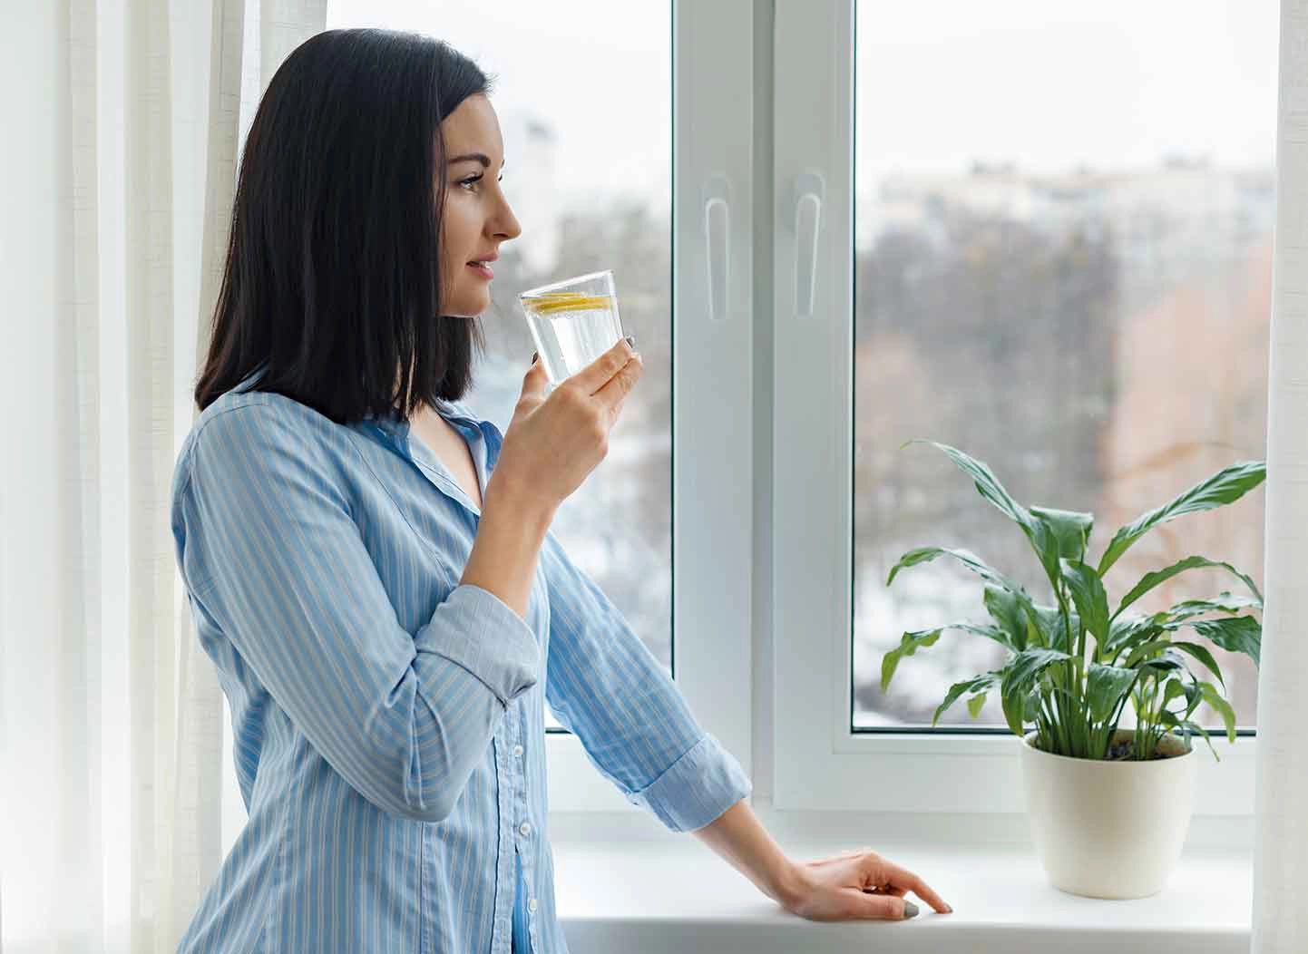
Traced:
[[[777, 808], [1022, 809], [993, 700], [930, 728], [955, 677], [997, 661], [982, 640], [944, 634], [879, 691], [905, 630], [984, 612], [944, 565], [887, 588], [908, 549], [965, 546], [1044, 592], [1020, 532], [905, 440], [1093, 511], [1100, 548], [1264, 456], [1275, 7], [777, 5]], [[1155, 531], [1109, 592], [1192, 553], [1260, 578], [1261, 508], [1256, 491]], [[1164, 597], [1231, 588], [1175, 582]], [[1219, 659], [1249, 732], [1253, 666]], [[1248, 812], [1239, 741], [1201, 761], [1198, 813]]]

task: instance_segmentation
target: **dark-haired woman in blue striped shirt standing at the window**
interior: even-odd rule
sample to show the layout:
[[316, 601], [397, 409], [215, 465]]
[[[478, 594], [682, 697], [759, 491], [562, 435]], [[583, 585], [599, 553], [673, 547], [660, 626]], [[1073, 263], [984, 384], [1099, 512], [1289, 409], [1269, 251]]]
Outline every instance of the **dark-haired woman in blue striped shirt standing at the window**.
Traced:
[[548, 397], [534, 362], [504, 435], [459, 404], [485, 263], [521, 231], [488, 91], [436, 41], [331, 30], [250, 128], [171, 508], [249, 822], [181, 949], [566, 951], [544, 700], [790, 910], [903, 917], [905, 889], [943, 910], [871, 852], [785, 859], [548, 532], [641, 376], [632, 341]]

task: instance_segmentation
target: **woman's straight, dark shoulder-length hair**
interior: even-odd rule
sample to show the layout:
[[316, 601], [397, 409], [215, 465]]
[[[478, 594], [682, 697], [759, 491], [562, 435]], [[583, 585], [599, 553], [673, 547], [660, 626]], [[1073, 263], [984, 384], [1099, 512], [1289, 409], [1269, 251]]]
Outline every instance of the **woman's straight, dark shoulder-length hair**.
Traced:
[[441, 315], [441, 122], [485, 73], [416, 33], [327, 30], [268, 84], [241, 156], [204, 410], [252, 389], [337, 423], [471, 386], [476, 318]]

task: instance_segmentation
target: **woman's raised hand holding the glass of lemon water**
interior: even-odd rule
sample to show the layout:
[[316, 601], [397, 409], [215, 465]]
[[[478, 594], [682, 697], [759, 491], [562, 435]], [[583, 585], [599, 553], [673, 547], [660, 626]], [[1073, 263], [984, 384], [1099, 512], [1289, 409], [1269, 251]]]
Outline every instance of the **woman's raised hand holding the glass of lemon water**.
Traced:
[[490, 474], [497, 487], [552, 514], [608, 453], [608, 433], [641, 374], [640, 354], [621, 338], [545, 397], [549, 379], [536, 361]]

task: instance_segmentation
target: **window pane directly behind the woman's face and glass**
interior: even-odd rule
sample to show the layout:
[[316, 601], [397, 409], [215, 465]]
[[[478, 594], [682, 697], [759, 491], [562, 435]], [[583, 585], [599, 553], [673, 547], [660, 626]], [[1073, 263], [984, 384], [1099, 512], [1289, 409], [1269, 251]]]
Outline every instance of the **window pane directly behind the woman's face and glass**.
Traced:
[[[332, 0], [328, 27], [416, 30], [493, 82], [504, 189], [522, 225], [494, 267], [467, 403], [508, 430], [535, 345], [517, 293], [612, 269], [645, 375], [608, 456], [559, 510], [569, 557], [672, 668], [671, 4]], [[574, 55], [583, 54], [583, 55]], [[615, 82], [620, 77], [620, 82]], [[549, 716], [547, 724], [559, 723]]]

